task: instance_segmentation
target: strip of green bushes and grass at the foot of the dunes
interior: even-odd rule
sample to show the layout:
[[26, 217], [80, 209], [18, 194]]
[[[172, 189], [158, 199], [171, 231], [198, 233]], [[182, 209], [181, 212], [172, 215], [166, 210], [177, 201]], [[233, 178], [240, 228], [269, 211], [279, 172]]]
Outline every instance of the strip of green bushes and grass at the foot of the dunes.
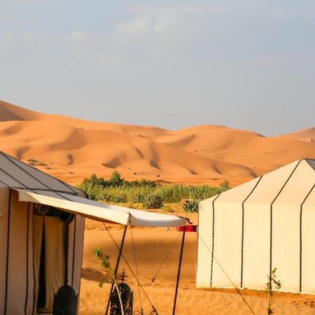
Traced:
[[[92, 200], [119, 204], [132, 204], [137, 209], [160, 209], [165, 204], [183, 204], [186, 212], [197, 212], [198, 202], [230, 189], [228, 181], [219, 187], [202, 185], [162, 186], [154, 181], [126, 181], [118, 172], [113, 172], [111, 179], [104, 180], [95, 174], [84, 179], [78, 186]], [[169, 208], [169, 207], [167, 207]]]

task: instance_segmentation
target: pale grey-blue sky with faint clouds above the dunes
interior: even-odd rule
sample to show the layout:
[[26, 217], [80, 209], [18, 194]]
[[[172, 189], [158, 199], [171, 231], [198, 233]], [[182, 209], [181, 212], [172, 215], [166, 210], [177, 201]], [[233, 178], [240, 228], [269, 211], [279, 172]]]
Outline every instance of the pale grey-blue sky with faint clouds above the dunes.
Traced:
[[0, 0], [0, 99], [267, 136], [315, 125], [314, 0]]

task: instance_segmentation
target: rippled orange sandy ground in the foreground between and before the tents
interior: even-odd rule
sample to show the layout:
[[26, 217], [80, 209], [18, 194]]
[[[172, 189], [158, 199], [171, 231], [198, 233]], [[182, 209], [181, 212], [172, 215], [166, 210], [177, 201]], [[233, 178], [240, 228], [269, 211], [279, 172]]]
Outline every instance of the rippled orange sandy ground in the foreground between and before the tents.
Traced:
[[[197, 217], [193, 216], [196, 222]], [[120, 244], [123, 228], [105, 225], [110, 235]], [[110, 285], [99, 288], [98, 281], [106, 279], [104, 269], [94, 258], [94, 248], [101, 247], [115, 265], [118, 250], [104, 225], [87, 220], [83, 255], [83, 279], [80, 292], [80, 314], [104, 314], [109, 297]], [[175, 228], [132, 228], [127, 230], [123, 255], [132, 271], [122, 258], [119, 274], [125, 270], [126, 280], [134, 290], [134, 314], [151, 314], [152, 304], [158, 314], [172, 314], [181, 232]], [[267, 294], [264, 291], [241, 290], [241, 294], [253, 313], [235, 289], [195, 289], [195, 266], [197, 256], [197, 234], [186, 233], [186, 246], [181, 269], [181, 281], [176, 314], [267, 314]], [[137, 261], [137, 264], [135, 263]], [[136, 267], [137, 266], [137, 267]], [[141, 290], [138, 279], [145, 293]], [[155, 281], [153, 281], [155, 279]], [[315, 314], [315, 295], [276, 293], [274, 314]]]

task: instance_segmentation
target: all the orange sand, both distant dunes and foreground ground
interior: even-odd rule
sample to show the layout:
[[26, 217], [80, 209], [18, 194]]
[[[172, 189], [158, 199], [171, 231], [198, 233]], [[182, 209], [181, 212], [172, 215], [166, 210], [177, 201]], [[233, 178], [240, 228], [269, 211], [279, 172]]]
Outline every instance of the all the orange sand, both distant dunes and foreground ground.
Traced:
[[[214, 185], [226, 179], [237, 185], [293, 160], [315, 158], [314, 127], [276, 137], [218, 125], [174, 131], [36, 113], [6, 102], [0, 102], [0, 120], [1, 151], [71, 184], [92, 173], [106, 178], [116, 169], [125, 179]], [[197, 216], [192, 220], [196, 223]], [[123, 228], [107, 228], [119, 242]], [[139, 295], [137, 281], [122, 260], [119, 273], [125, 269], [134, 290], [134, 314], [140, 314], [141, 304], [144, 314], [151, 314], [151, 303], [158, 314], [172, 314], [180, 241], [181, 232], [174, 228], [128, 230], [123, 255], [151, 300]], [[104, 314], [108, 299], [109, 284], [98, 286], [106, 278], [93, 255], [97, 247], [114, 265], [118, 251], [109, 233], [101, 223], [87, 220], [82, 315]], [[252, 314], [235, 289], [195, 289], [196, 255], [197, 235], [187, 233], [176, 314]], [[241, 293], [255, 314], [267, 313], [265, 292]], [[274, 314], [315, 314], [314, 301], [314, 295], [278, 293]]]

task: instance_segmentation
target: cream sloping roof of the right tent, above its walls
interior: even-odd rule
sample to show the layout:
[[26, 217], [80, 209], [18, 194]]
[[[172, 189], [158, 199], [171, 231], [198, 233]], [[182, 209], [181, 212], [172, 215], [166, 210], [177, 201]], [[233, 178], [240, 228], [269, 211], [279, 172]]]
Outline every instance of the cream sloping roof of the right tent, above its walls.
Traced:
[[201, 202], [315, 206], [315, 160], [301, 159]]

